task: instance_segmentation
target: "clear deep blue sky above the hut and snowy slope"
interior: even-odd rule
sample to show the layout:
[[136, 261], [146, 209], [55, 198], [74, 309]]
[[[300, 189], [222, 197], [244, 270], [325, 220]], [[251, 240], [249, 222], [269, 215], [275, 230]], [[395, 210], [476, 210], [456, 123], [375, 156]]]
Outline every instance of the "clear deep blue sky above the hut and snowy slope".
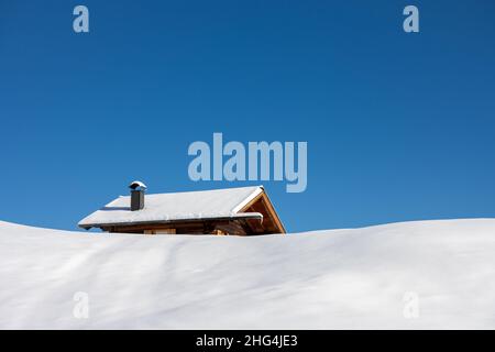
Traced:
[[2, 0], [0, 219], [252, 185], [189, 180], [213, 132], [308, 142], [306, 193], [263, 183], [290, 231], [495, 217], [494, 40], [492, 0]]

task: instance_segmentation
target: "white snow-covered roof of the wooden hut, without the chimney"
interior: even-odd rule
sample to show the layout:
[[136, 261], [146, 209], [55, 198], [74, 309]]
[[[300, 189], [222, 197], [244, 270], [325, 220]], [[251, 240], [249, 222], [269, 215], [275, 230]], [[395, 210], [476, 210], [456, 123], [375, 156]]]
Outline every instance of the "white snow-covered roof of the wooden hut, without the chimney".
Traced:
[[255, 186], [145, 195], [144, 209], [138, 211], [131, 211], [131, 197], [121, 196], [82, 219], [79, 227], [262, 217], [240, 211], [263, 191], [262, 186]]

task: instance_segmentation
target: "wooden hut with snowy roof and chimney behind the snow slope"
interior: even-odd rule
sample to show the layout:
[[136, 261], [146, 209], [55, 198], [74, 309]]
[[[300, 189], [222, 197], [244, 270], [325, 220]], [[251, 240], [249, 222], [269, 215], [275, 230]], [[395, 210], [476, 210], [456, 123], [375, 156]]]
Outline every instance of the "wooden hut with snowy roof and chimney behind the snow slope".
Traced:
[[79, 222], [89, 230], [143, 234], [286, 233], [263, 186], [145, 194], [140, 182]]

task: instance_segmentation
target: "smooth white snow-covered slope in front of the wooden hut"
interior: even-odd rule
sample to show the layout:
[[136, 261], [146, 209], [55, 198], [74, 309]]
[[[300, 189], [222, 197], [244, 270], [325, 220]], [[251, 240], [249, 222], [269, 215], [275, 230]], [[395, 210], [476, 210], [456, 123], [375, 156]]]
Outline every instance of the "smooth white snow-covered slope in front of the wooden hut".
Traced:
[[0, 328], [495, 329], [495, 219], [257, 238], [0, 222]]

